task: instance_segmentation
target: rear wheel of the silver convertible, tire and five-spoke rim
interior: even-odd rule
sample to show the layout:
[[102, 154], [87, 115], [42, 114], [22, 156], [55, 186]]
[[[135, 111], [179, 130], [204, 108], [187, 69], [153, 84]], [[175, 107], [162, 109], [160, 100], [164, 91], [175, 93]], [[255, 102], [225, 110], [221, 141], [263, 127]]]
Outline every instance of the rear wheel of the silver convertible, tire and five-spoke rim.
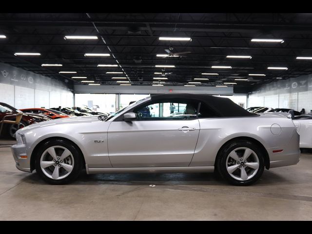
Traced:
[[238, 140], [224, 146], [217, 156], [220, 175], [234, 185], [250, 185], [264, 171], [264, 155], [253, 142]]

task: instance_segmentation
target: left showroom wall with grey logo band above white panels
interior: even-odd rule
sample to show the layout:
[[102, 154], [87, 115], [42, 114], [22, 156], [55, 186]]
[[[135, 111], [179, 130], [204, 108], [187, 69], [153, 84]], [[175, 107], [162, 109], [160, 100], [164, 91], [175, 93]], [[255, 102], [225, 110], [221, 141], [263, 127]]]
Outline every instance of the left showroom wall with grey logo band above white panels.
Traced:
[[0, 63], [0, 102], [18, 109], [73, 106], [74, 94], [64, 82]]

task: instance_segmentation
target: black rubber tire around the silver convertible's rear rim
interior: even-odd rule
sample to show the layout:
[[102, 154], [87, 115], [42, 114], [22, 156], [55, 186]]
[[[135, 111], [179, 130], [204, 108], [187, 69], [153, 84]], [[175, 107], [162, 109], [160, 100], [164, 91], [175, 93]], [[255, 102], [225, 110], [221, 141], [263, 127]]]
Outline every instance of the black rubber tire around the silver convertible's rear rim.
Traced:
[[[254, 151], [254, 153], [256, 154], [258, 161], [259, 161], [259, 168], [257, 169], [257, 172], [254, 174], [253, 177], [251, 177], [250, 179], [247, 179], [247, 180], [235, 179], [227, 171], [227, 163], [228, 163], [227, 158], [228, 158], [229, 154], [233, 150], [240, 148], [240, 147], [246, 147], [246, 148], [249, 148], [252, 151]], [[231, 184], [240, 185], [240, 186], [251, 185], [261, 177], [261, 175], [264, 171], [264, 167], [265, 167], [265, 165], [264, 165], [264, 152], [259, 148], [259, 146], [257, 144], [255, 144], [251, 141], [248, 141], [248, 140], [231, 141], [231, 142], [227, 143], [226, 145], [224, 145], [222, 147], [222, 149], [220, 150], [220, 152], [216, 158], [215, 166], [216, 166], [216, 170], [217, 170], [217, 172], [219, 172], [220, 176], [223, 179], [226, 179]], [[237, 169], [237, 170], [241, 170], [241, 169]], [[249, 170], [252, 171], [252, 169], [249, 169]], [[237, 173], [237, 171], [236, 171], [236, 173]], [[239, 171], [238, 171], [238, 173], [239, 173]]]

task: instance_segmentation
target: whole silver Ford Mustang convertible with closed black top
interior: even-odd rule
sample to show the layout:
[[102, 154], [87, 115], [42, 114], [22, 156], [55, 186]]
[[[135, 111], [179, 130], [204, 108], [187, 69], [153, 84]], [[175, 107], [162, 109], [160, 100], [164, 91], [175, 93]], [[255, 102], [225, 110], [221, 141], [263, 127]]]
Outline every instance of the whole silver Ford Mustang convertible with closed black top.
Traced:
[[76, 117], [17, 132], [18, 169], [51, 184], [95, 173], [216, 171], [250, 185], [264, 168], [297, 164], [299, 135], [289, 117], [250, 113], [228, 98], [164, 94], [110, 117]]

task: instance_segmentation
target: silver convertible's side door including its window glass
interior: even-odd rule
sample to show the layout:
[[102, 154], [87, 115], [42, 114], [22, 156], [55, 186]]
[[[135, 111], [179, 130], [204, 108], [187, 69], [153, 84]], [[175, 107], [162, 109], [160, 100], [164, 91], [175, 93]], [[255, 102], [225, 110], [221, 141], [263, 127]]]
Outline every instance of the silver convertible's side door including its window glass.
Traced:
[[[156, 101], [137, 107], [134, 121], [113, 121], [108, 129], [108, 151], [113, 167], [188, 166], [199, 135], [196, 104], [186, 112], [186, 101]], [[191, 104], [189, 103], [189, 106]], [[191, 106], [192, 107], [192, 106]], [[182, 114], [181, 114], [182, 113]]]

